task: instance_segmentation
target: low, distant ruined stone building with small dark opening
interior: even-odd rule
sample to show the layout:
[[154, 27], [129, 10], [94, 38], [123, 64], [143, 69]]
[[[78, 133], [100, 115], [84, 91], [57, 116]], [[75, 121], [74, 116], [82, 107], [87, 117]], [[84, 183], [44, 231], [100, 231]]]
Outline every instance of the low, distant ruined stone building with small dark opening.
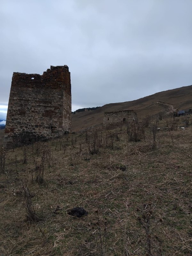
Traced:
[[113, 111], [113, 112], [105, 112], [103, 118], [103, 124], [117, 124], [117, 123], [125, 123], [129, 120], [135, 118], [137, 114], [133, 110], [121, 110], [121, 111]]

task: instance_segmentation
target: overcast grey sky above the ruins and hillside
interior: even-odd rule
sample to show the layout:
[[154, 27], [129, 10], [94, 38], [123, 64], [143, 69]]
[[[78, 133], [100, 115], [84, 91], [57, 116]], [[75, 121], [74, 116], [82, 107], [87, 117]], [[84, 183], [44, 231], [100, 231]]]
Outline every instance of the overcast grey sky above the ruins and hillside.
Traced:
[[0, 4], [4, 116], [12, 73], [42, 75], [51, 65], [69, 67], [73, 111], [192, 84], [191, 0]]

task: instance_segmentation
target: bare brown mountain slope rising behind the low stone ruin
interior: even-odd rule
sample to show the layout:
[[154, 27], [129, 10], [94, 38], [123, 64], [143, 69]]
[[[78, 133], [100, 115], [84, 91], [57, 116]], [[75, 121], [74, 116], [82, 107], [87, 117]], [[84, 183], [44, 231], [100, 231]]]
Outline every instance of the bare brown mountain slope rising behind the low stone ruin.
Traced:
[[133, 109], [139, 117], [142, 117], [155, 115], [161, 111], [174, 111], [176, 108], [182, 110], [191, 107], [192, 85], [183, 86], [168, 91], [157, 92], [138, 100], [110, 103], [96, 110], [80, 112], [75, 115], [72, 114], [72, 131], [102, 124], [105, 111]]

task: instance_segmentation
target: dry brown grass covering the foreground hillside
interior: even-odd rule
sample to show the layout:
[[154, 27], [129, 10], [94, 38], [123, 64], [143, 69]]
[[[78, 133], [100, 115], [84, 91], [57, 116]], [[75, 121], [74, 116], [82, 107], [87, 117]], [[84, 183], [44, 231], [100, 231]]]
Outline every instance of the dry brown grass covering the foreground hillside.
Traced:
[[[125, 126], [98, 129], [98, 154], [90, 154], [86, 133], [36, 143], [25, 154], [8, 151], [0, 176], [0, 254], [191, 255], [192, 126], [161, 128], [153, 149], [151, 125], [138, 142], [129, 141]], [[43, 182], [36, 182], [42, 159]], [[23, 182], [38, 222], [27, 220]], [[77, 206], [88, 216], [66, 213]]]

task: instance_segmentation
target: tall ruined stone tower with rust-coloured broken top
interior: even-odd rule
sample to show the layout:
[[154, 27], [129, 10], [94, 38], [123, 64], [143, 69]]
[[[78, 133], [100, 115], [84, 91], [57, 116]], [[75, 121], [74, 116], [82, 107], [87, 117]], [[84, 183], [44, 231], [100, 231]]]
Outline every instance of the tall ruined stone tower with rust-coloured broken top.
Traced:
[[71, 131], [71, 81], [68, 66], [43, 73], [14, 72], [5, 126], [5, 146], [47, 140]]

